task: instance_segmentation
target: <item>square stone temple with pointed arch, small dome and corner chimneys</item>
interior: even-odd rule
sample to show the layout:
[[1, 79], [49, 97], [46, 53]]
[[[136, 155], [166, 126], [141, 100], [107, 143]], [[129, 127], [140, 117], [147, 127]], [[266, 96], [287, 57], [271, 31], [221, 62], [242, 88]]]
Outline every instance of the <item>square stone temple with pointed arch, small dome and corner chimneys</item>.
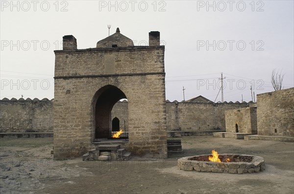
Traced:
[[90, 49], [64, 36], [63, 50], [54, 51], [54, 158], [81, 156], [94, 139], [110, 138], [111, 110], [121, 99], [134, 121], [126, 149], [166, 158], [164, 51], [158, 31], [149, 32], [149, 46], [134, 46], [119, 28]]

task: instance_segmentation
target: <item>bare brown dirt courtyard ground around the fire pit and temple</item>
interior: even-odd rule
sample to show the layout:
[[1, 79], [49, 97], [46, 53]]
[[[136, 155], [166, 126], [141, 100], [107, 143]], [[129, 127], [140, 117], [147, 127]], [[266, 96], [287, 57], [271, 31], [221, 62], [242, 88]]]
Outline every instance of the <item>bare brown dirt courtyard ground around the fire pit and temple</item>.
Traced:
[[[53, 161], [53, 138], [0, 139], [0, 194], [293, 194], [294, 143], [182, 137], [182, 154], [168, 159]], [[253, 174], [183, 171], [177, 159], [210, 154], [249, 154], [265, 159]]]

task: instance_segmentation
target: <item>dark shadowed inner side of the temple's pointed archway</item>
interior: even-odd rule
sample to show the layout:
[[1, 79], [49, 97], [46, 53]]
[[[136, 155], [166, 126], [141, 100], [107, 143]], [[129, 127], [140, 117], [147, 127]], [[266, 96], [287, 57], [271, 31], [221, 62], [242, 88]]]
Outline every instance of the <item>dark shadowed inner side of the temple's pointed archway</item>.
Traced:
[[93, 98], [95, 139], [111, 137], [111, 110], [123, 98], [126, 98], [123, 91], [113, 85], [103, 86], [96, 92]]

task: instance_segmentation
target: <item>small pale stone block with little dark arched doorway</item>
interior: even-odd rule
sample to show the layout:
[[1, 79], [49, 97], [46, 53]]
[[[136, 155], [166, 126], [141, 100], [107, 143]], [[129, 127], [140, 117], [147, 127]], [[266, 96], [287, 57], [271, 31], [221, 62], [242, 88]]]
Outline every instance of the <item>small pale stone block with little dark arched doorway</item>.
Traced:
[[256, 107], [225, 111], [225, 130], [236, 133], [237, 124], [239, 133], [256, 135], [256, 117]]

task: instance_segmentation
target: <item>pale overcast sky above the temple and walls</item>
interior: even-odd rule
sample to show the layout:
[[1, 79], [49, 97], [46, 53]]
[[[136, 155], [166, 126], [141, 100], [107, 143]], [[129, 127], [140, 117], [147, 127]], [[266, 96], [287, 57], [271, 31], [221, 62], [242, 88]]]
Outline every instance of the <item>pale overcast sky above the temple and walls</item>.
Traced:
[[[160, 31], [166, 46], [166, 99], [202, 95], [251, 100], [273, 91], [273, 69], [294, 87], [294, 1], [11, 1], [1, 0], [0, 99], [54, 98], [54, 50], [72, 34], [77, 48], [95, 48], [117, 27], [135, 45]], [[218, 97], [217, 97], [218, 95]], [[217, 97], [217, 98], [216, 98]]]

